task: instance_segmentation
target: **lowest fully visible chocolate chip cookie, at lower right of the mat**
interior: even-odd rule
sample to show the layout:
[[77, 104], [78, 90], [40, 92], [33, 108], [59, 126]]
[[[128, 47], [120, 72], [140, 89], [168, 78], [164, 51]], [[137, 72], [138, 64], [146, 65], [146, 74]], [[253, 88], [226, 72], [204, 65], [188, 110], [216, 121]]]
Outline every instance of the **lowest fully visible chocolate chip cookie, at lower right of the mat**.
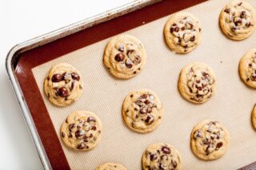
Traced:
[[198, 158], [216, 160], [226, 153], [230, 144], [230, 134], [218, 121], [205, 120], [194, 126], [190, 144]]

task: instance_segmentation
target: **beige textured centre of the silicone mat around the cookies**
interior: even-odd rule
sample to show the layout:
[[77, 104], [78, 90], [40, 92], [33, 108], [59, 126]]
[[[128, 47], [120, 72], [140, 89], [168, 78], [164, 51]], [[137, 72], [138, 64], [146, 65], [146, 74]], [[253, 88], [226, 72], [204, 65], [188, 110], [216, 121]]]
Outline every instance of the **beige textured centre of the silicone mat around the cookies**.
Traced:
[[[256, 132], [250, 124], [256, 89], [248, 88], [238, 76], [238, 62], [244, 53], [256, 45], [256, 33], [242, 42], [231, 41], [222, 34], [218, 27], [218, 15], [227, 2], [229, 0], [211, 0], [186, 10], [202, 22], [202, 43], [186, 55], [170, 52], [164, 42], [162, 30], [169, 16], [127, 31], [127, 34], [143, 42], [148, 55], [145, 69], [130, 80], [111, 77], [103, 66], [102, 54], [109, 39], [33, 69], [58, 135], [62, 121], [75, 110], [93, 111], [102, 120], [102, 141], [90, 152], [75, 152], [66, 148], [61, 141], [72, 169], [93, 170], [105, 162], [118, 162], [129, 170], [139, 170], [142, 153], [148, 145], [156, 142], [166, 142], [177, 148], [182, 154], [183, 169], [226, 170], [256, 161]], [[256, 1], [248, 2], [256, 6]], [[178, 93], [180, 70], [193, 61], [210, 65], [218, 78], [216, 95], [202, 105], [191, 104]], [[48, 70], [59, 62], [70, 63], [79, 69], [85, 84], [82, 97], [66, 108], [51, 105], [42, 91]], [[162, 124], [154, 132], [138, 134], [124, 125], [121, 108], [127, 93], [144, 88], [158, 94], [165, 115]], [[221, 159], [198, 160], [190, 150], [190, 132], [203, 119], [220, 121], [230, 131], [230, 149]]]

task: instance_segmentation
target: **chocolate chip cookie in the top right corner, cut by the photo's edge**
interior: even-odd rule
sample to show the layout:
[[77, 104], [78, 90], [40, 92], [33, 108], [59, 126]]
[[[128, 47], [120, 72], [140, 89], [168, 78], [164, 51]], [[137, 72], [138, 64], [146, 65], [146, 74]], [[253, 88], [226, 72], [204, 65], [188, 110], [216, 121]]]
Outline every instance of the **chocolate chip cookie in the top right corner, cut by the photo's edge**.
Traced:
[[228, 38], [243, 40], [254, 33], [255, 19], [256, 12], [253, 6], [248, 2], [234, 0], [223, 8], [219, 24]]

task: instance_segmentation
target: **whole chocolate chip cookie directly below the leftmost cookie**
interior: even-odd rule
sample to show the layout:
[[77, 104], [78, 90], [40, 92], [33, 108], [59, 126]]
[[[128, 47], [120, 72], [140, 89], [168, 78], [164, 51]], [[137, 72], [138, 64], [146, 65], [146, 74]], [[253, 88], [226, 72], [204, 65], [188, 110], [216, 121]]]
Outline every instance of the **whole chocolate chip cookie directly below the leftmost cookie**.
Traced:
[[92, 112], [76, 111], [62, 123], [61, 136], [70, 148], [90, 150], [102, 139], [102, 121]]

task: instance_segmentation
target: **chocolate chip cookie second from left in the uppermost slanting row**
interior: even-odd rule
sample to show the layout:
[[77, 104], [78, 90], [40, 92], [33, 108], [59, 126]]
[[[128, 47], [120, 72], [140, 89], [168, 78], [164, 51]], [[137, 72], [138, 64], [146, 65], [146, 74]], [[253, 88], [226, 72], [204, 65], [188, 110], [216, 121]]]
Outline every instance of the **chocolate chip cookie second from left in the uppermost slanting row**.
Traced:
[[146, 64], [146, 51], [138, 38], [121, 34], [107, 43], [103, 61], [114, 77], [127, 79], [142, 71]]

